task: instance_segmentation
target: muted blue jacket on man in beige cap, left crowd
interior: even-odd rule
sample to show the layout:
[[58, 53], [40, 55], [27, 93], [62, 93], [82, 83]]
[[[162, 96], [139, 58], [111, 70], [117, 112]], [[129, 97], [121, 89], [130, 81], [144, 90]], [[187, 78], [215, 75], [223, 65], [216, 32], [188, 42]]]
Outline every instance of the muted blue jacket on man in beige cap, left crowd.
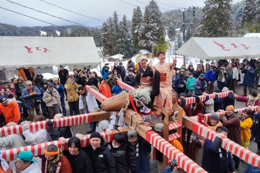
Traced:
[[29, 93], [29, 90], [27, 88], [23, 89], [22, 91], [22, 99], [25, 100], [25, 107], [27, 109], [31, 109], [32, 106], [34, 106], [34, 103], [32, 100], [37, 100], [39, 99], [39, 96], [42, 95], [42, 93], [40, 92], [40, 90], [36, 87], [36, 86], [33, 86], [33, 92], [35, 91], [37, 93], [37, 95], [34, 95], [34, 96], [30, 96], [30, 93]]

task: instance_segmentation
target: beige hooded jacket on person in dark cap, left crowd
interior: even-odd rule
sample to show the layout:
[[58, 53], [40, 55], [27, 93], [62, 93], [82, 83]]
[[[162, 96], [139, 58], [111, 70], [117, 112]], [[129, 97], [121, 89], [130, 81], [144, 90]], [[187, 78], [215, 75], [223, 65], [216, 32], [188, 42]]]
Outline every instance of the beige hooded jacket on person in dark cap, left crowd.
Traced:
[[[51, 97], [53, 98], [51, 100]], [[52, 89], [52, 94], [51, 91], [49, 91], [49, 89], [47, 89], [42, 97], [42, 100], [46, 103], [46, 106], [48, 107], [52, 107], [52, 106], [60, 106], [61, 102], [60, 102], [60, 94], [57, 90]]]

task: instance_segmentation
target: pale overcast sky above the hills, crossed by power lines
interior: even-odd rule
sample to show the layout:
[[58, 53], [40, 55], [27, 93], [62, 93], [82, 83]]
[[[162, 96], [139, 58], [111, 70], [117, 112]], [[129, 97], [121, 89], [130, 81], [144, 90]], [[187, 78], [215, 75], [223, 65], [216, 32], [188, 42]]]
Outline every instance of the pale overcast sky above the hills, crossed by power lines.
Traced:
[[[113, 12], [116, 10], [118, 13], [119, 20], [122, 19], [122, 16], [125, 14], [127, 16], [127, 19], [130, 20], [133, 15], [133, 8], [135, 6], [133, 5], [139, 5], [140, 7], [145, 8], [146, 4], [149, 3], [149, 0], [122, 0], [127, 3], [131, 3], [133, 5], [129, 5], [127, 3], [124, 3], [119, 0], [44, 0], [46, 2], [52, 3], [54, 5], [66, 8], [68, 10], [90, 16], [92, 18], [96, 18], [99, 20], [91, 19], [85, 16], [81, 16], [72, 12], [68, 12], [66, 10], [63, 10], [61, 8], [55, 7], [53, 5], [47, 4], [40, 0], [10, 0], [12, 2], [19, 3], [21, 5], [34, 8], [36, 10], [49, 13], [53, 16], [57, 16], [60, 18], [64, 18], [73, 22], [77, 22], [86, 26], [94, 27], [94, 26], [100, 26], [102, 25], [103, 20], [106, 21], [109, 16], [113, 14]], [[141, 2], [140, 2], [141, 1]], [[161, 3], [157, 3], [159, 5], [161, 12], [168, 10], [176, 9], [176, 7], [183, 7], [187, 8], [189, 6], [204, 6], [203, 0], [157, 0], [158, 2], [167, 4], [163, 5]], [[240, 0], [233, 0], [233, 3], [237, 3]], [[143, 3], [142, 3], [143, 2]], [[176, 7], [172, 7], [172, 6]], [[6, 8], [8, 10], [12, 10], [21, 14], [25, 14], [27, 16], [31, 16], [40, 20], [44, 20], [46, 22], [55, 24], [55, 25], [73, 25], [74, 23], [67, 22], [62, 19], [58, 19], [52, 16], [49, 16], [47, 14], [42, 14], [40, 12], [36, 12], [34, 10], [22, 7], [20, 5], [8, 2], [7, 0], [1, 0], [0, 7]], [[162, 9], [165, 8], [165, 9]], [[144, 9], [142, 9], [142, 12], [144, 13]], [[16, 14], [14, 12], [10, 12], [4, 9], [0, 8], [0, 22], [2, 23], [8, 23], [16, 26], [49, 26], [50, 24], [28, 18], [26, 16], [22, 16], [20, 14]]]

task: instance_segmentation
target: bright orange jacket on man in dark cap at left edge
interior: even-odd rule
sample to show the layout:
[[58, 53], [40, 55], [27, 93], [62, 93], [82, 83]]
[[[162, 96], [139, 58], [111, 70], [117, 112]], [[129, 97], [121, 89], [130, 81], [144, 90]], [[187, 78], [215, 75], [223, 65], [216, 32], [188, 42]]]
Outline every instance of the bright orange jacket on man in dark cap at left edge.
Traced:
[[5, 116], [6, 124], [10, 122], [18, 122], [21, 114], [18, 103], [11, 101], [7, 106], [0, 103], [0, 114], [3, 113]]

